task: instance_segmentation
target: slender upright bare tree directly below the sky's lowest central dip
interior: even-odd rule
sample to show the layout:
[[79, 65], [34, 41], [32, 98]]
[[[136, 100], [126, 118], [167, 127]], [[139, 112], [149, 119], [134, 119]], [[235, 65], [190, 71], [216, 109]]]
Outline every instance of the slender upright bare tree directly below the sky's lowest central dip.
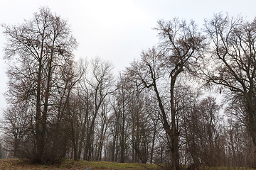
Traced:
[[110, 136], [112, 137], [111, 156], [112, 161], [124, 162], [127, 149], [127, 121], [129, 81], [124, 74], [119, 74], [115, 91], [110, 99], [112, 115], [110, 116]]

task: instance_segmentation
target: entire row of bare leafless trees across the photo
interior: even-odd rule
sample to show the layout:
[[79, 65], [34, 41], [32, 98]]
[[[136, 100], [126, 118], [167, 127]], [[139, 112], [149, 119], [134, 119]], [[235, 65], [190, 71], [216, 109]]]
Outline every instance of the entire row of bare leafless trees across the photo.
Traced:
[[218, 13], [203, 30], [158, 21], [159, 45], [116, 76], [99, 57], [75, 61], [78, 42], [48, 7], [2, 27], [9, 82], [1, 154], [38, 164], [256, 167], [256, 19]]

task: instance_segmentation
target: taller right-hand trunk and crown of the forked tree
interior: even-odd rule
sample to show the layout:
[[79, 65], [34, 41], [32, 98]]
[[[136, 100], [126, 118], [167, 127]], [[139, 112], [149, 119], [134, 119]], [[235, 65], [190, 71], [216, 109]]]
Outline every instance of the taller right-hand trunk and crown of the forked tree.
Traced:
[[[181, 72], [186, 69], [191, 71], [191, 66], [196, 64], [196, 60], [201, 56], [201, 50], [206, 47], [205, 38], [198, 32], [196, 24], [186, 23], [174, 18], [173, 21], [159, 21], [159, 38], [161, 39], [160, 47], [162, 47], [168, 68], [170, 80], [170, 104], [171, 104], [171, 131], [169, 137], [171, 140], [172, 163], [175, 169], [179, 169], [178, 155], [178, 121], [176, 120], [176, 108], [174, 101], [174, 88], [176, 79]], [[162, 111], [162, 115], [164, 112]], [[166, 121], [164, 121], [166, 122]], [[164, 123], [167, 130], [168, 123]]]

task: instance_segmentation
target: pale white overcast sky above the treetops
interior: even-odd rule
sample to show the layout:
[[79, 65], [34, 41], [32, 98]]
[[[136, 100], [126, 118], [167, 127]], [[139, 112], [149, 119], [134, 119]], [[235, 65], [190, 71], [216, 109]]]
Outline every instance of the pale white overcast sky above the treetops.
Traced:
[[[101, 57], [122, 71], [142, 50], [157, 45], [155, 30], [159, 19], [193, 19], [203, 26], [214, 13], [241, 14], [247, 20], [256, 16], [255, 0], [1, 0], [0, 23], [14, 25], [33, 17], [38, 7], [48, 6], [70, 23], [79, 42], [75, 56]], [[0, 28], [0, 108], [6, 106], [5, 38]]]

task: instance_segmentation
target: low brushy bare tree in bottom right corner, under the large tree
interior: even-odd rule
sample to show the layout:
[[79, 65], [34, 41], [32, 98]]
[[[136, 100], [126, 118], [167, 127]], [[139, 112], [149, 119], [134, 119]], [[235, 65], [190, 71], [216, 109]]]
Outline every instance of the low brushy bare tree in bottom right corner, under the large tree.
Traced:
[[230, 101], [225, 113], [228, 122], [225, 127], [228, 166], [255, 167], [255, 145], [247, 129], [247, 111], [240, 98]]

